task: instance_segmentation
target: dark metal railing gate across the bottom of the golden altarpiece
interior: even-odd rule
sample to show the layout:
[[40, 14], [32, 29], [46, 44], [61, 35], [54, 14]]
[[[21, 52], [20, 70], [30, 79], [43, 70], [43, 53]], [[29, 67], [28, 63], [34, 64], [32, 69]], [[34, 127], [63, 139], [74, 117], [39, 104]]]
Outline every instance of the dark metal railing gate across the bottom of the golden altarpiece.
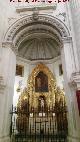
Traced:
[[10, 136], [12, 142], [66, 142], [67, 108], [65, 103], [41, 111], [12, 107]]

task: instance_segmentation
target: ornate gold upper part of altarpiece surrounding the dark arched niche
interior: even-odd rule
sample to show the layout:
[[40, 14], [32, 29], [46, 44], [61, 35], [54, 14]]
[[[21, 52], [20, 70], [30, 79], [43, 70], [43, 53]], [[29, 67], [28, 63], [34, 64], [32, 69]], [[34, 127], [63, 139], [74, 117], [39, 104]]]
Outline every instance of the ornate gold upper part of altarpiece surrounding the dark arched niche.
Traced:
[[[48, 90], [49, 92], [35, 92], [35, 77], [40, 71], [43, 71], [48, 76]], [[45, 96], [47, 107], [54, 107], [55, 101], [59, 102], [61, 99], [65, 102], [64, 91], [57, 87], [56, 79], [52, 72], [47, 66], [42, 63], [39, 63], [32, 71], [28, 79], [28, 87], [24, 88], [21, 93], [18, 101], [18, 107], [21, 107], [21, 104], [24, 101], [29, 102], [30, 108], [37, 109], [38, 107], [38, 98], [39, 96]]]

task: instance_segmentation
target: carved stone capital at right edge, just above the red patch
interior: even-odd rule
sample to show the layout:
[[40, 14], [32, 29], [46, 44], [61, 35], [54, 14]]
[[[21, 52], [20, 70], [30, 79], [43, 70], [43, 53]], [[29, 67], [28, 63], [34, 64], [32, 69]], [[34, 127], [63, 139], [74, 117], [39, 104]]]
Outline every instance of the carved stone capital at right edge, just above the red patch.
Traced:
[[72, 73], [71, 84], [75, 86], [77, 90], [80, 90], [80, 72]]

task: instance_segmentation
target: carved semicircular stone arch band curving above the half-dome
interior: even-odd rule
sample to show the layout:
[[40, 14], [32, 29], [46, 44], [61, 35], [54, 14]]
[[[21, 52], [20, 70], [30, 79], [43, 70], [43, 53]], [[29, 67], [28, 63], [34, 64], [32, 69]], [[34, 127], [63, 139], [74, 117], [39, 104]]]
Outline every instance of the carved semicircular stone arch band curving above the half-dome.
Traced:
[[[27, 36], [29, 36], [29, 32], [31, 33], [31, 31], [33, 30], [32, 25], [35, 26], [37, 24], [43, 24], [44, 26], [48, 26], [49, 30], [47, 31], [47, 33], [50, 33], [50, 30], [54, 29], [54, 32], [52, 32], [52, 34], [55, 33], [56, 36], [58, 37], [64, 38], [64, 37], [70, 36], [68, 28], [62, 21], [60, 21], [59, 19], [53, 16], [48, 16], [46, 14], [39, 14], [37, 20], [33, 19], [33, 15], [24, 16], [16, 20], [16, 22], [14, 22], [7, 30], [4, 36], [4, 42], [13, 42], [14, 45], [18, 46], [19, 44], [18, 42], [19, 41], [21, 42], [21, 40], [25, 38], [27, 33], [28, 33]], [[34, 30], [38, 31], [40, 30], [40, 28], [34, 27]], [[26, 31], [29, 31], [29, 32], [26, 33]]]

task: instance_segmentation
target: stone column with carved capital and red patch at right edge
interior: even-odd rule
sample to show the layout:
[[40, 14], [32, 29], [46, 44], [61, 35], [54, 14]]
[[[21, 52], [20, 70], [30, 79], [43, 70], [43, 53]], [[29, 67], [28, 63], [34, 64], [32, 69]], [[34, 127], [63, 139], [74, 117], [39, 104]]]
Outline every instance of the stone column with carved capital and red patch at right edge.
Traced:
[[80, 142], [80, 72], [72, 73], [70, 82], [73, 92], [73, 119], [75, 122], [75, 129], [73, 130], [72, 137], [69, 140], [72, 142]]

